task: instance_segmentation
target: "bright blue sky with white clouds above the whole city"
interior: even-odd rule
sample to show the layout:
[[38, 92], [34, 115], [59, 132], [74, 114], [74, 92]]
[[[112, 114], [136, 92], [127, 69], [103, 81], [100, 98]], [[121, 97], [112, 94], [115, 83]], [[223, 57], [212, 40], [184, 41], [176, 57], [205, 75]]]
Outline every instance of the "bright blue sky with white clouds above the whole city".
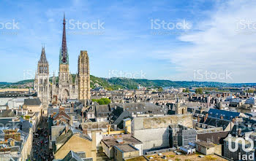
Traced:
[[[73, 74], [80, 50], [87, 50], [94, 76], [256, 82], [255, 28], [241, 25], [256, 22], [255, 1], [227, 0], [2, 0], [0, 82], [33, 79], [42, 44], [50, 75], [58, 74], [64, 12]], [[189, 28], [152, 28], [152, 20], [186, 22]], [[13, 22], [17, 27], [3, 26]], [[103, 28], [81, 28], [78, 22]]]

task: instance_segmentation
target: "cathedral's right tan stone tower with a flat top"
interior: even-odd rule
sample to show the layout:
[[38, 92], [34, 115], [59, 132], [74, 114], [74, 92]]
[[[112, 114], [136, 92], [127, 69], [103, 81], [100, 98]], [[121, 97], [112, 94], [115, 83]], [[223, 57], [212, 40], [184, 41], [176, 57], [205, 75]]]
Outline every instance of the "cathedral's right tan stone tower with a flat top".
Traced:
[[80, 51], [78, 58], [78, 99], [86, 101], [90, 98], [89, 57], [87, 51]]

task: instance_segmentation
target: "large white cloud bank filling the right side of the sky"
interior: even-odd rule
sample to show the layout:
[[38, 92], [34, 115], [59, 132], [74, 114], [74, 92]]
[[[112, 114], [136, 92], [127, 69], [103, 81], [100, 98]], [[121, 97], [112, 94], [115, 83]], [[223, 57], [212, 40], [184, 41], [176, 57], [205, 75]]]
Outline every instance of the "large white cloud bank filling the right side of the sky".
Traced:
[[[256, 29], [254, 34], [236, 30], [238, 20], [256, 22], [256, 1], [227, 1], [217, 4], [208, 20], [194, 22], [192, 32], [179, 36], [192, 44], [179, 50], [159, 54], [176, 65], [176, 79], [222, 82], [255, 82]], [[241, 28], [241, 26], [240, 26]], [[181, 45], [182, 46], [182, 45]], [[232, 79], [195, 79], [195, 70], [222, 73], [230, 71]]]

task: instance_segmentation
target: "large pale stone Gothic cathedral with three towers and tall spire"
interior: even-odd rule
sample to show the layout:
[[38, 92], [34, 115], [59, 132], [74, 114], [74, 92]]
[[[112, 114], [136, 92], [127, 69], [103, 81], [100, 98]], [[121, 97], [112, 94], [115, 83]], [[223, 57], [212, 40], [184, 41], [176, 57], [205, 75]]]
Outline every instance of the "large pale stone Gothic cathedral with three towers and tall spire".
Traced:
[[67, 99], [78, 99], [86, 101], [90, 99], [90, 71], [89, 56], [87, 51], [80, 51], [78, 57], [78, 74], [73, 79], [69, 73], [69, 53], [66, 40], [66, 20], [63, 20], [62, 44], [59, 52], [59, 77], [53, 73], [50, 83], [49, 64], [45, 55], [45, 47], [42, 47], [40, 59], [37, 64], [37, 72], [34, 78], [34, 90], [42, 101], [42, 105], [47, 107], [52, 99], [58, 98], [64, 102]]

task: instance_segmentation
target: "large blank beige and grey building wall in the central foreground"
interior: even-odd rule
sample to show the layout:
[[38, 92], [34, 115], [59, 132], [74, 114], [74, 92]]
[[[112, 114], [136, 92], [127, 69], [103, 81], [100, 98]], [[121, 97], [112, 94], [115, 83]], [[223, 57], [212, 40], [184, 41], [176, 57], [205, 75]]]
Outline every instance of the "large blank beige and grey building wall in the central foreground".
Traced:
[[148, 150], [169, 148], [170, 124], [180, 124], [192, 128], [192, 115], [136, 117], [132, 120], [132, 136], [143, 142], [143, 154]]

